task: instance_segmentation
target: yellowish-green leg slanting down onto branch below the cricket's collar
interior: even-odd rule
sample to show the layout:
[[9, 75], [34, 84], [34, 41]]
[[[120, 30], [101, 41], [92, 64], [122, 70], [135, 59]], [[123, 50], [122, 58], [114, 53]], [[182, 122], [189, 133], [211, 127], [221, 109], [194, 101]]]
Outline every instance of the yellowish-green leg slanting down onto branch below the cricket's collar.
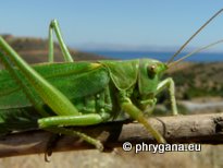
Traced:
[[[123, 98], [122, 98], [123, 99]], [[159, 142], [166, 143], [163, 136], [154, 130], [148, 120], [145, 118], [144, 112], [139, 110], [129, 98], [124, 98], [121, 103], [122, 109], [127, 112], [133, 119], [137, 120], [139, 123], [144, 124], [144, 127], [148, 130], [149, 133]]]

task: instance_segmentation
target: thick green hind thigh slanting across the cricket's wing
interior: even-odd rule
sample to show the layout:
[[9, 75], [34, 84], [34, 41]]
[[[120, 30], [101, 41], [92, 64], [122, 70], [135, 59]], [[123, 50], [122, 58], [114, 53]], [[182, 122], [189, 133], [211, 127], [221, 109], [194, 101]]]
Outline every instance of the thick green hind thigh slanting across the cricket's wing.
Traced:
[[[79, 112], [73, 104], [65, 97], [59, 89], [46, 81], [39, 73], [29, 67], [10, 46], [0, 37], [0, 47], [7, 53], [8, 58], [17, 67], [21, 74], [30, 84], [32, 87], [38, 93], [41, 99], [60, 116], [74, 115]], [[4, 55], [0, 57], [5, 58]], [[12, 68], [12, 65], [10, 65]]]

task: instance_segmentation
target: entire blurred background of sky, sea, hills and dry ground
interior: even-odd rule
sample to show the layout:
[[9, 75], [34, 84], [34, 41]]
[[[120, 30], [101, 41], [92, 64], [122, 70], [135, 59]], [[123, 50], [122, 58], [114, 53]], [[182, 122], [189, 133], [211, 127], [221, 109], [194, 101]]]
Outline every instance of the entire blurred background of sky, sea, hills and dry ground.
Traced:
[[[222, 3], [207, 1], [66, 0], [3, 1], [0, 35], [30, 64], [47, 61], [48, 27], [52, 19], [76, 60], [154, 58], [171, 56]], [[176, 58], [223, 38], [223, 15], [208, 25]], [[55, 44], [55, 60], [62, 61]], [[223, 111], [223, 45], [194, 55], [170, 69], [176, 85], [179, 112], [184, 115]], [[153, 115], [170, 115], [169, 96], [159, 96]], [[222, 167], [222, 145], [202, 145], [201, 152], [151, 154], [79, 151], [54, 153], [51, 163], [44, 155], [0, 159], [2, 167]]]

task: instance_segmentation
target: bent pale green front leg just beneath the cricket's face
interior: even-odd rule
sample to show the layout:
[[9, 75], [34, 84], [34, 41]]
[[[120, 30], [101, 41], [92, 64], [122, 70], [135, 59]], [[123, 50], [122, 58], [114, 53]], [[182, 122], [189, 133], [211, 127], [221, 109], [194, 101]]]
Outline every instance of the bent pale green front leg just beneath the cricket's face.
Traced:
[[174, 86], [174, 81], [169, 77], [162, 82], [160, 82], [158, 84], [158, 88], [157, 88], [157, 94], [159, 94], [160, 92], [162, 92], [164, 88], [169, 88], [169, 93], [170, 93], [170, 98], [171, 98], [171, 108], [172, 108], [172, 111], [173, 111], [173, 115], [177, 115], [177, 108], [176, 108], [176, 99], [175, 99], [175, 86]]

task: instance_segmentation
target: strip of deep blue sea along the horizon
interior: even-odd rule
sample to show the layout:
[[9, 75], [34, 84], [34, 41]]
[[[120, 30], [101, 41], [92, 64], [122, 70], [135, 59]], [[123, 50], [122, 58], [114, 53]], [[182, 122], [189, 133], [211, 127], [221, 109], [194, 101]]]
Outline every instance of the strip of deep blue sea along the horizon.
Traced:
[[[114, 59], [136, 59], [136, 58], [152, 58], [160, 61], [168, 61], [174, 52], [158, 52], [158, 51], [91, 51], [99, 56], [104, 56]], [[187, 55], [187, 52], [179, 53], [175, 60]], [[195, 53], [191, 57], [187, 58], [184, 61], [191, 62], [219, 62], [223, 61], [223, 52], [200, 52]]]

